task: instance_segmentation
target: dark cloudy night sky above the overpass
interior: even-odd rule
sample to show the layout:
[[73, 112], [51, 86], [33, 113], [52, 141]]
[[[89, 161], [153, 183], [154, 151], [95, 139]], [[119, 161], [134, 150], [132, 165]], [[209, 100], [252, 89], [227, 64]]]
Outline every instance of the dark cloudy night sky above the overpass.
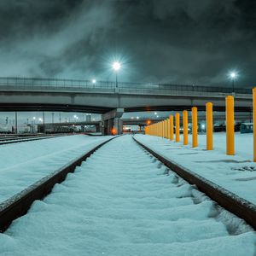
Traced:
[[9, 0], [0, 31], [0, 76], [256, 85], [254, 0]]

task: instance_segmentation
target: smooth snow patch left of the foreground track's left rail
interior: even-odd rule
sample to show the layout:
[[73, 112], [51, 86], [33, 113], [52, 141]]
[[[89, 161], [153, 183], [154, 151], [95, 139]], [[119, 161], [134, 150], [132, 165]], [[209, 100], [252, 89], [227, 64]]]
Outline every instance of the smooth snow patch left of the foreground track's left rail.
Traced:
[[0, 202], [108, 138], [75, 135], [1, 145]]

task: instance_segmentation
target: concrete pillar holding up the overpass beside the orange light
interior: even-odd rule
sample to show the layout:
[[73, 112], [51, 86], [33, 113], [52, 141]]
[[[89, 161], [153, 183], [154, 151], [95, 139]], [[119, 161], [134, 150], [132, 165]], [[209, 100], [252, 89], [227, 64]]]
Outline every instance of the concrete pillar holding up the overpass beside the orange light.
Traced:
[[116, 108], [108, 113], [102, 114], [102, 134], [111, 135], [113, 129], [116, 134], [122, 134], [123, 132], [123, 122], [120, 119], [124, 113], [124, 108]]

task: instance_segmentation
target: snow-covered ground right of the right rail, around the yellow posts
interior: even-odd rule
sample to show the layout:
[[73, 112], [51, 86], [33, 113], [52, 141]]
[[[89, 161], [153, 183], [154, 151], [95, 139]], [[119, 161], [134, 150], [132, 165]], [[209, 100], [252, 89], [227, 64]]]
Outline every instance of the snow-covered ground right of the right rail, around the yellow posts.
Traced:
[[256, 204], [256, 164], [253, 162], [253, 134], [236, 133], [236, 155], [225, 154], [225, 133], [214, 133], [213, 150], [206, 150], [206, 135], [199, 135], [199, 147], [183, 146], [168, 139], [137, 135], [136, 138], [192, 172]]

